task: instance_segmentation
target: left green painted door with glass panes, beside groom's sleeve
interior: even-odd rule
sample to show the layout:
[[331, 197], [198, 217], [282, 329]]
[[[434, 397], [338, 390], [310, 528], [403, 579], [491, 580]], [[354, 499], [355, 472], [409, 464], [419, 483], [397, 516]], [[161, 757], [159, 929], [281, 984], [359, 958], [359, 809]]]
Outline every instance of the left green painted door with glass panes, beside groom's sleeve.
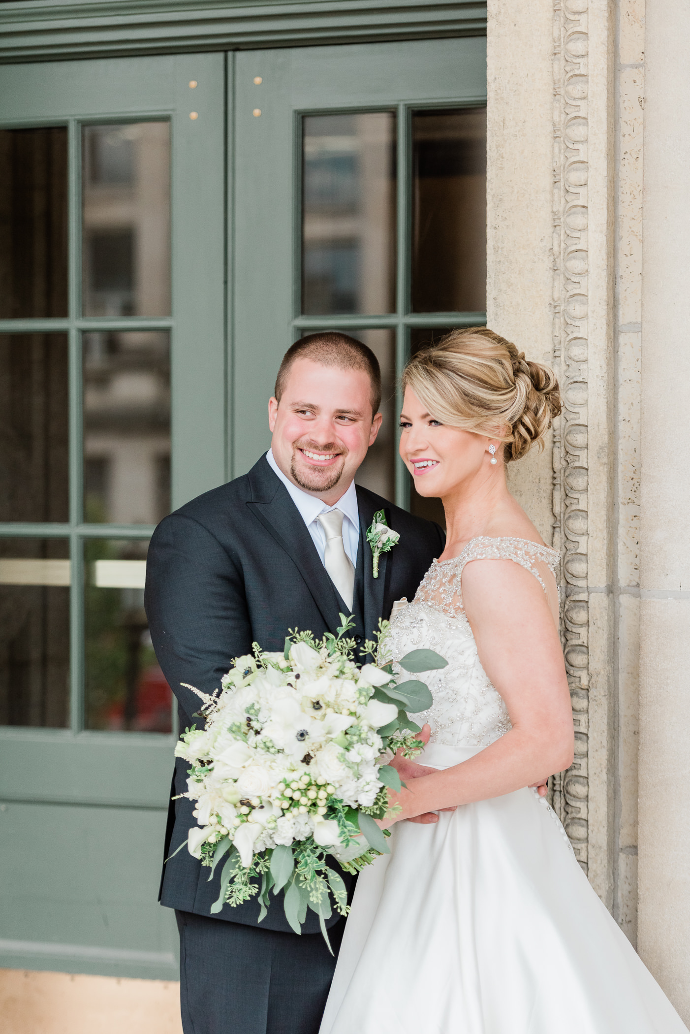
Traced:
[[143, 583], [226, 475], [225, 61], [0, 68], [0, 967], [177, 975]]

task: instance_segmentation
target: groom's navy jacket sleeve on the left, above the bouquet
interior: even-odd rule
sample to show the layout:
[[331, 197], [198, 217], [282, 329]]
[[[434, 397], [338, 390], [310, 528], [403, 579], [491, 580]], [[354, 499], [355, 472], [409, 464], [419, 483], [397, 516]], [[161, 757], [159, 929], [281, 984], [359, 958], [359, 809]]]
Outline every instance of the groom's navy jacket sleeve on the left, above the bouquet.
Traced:
[[145, 607], [158, 663], [183, 710], [220, 689], [232, 659], [251, 652], [242, 571], [198, 521], [171, 514], [149, 545]]

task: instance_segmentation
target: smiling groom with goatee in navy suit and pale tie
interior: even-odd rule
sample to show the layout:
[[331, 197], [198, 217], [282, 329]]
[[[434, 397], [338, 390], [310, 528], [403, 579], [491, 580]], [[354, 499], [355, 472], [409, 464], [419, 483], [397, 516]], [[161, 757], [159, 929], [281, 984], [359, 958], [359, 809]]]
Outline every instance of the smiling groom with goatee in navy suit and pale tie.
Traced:
[[[220, 686], [252, 643], [282, 650], [290, 629], [317, 638], [353, 614], [357, 643], [395, 600], [411, 599], [444, 543], [440, 527], [365, 488], [354, 476], [381, 426], [374, 354], [345, 334], [310, 334], [286, 353], [269, 402], [271, 450], [249, 474], [166, 517], [149, 548], [146, 610], [161, 668], [179, 703], [180, 728], [199, 720], [199, 699]], [[400, 541], [372, 573], [367, 528], [384, 510]], [[171, 796], [187, 789], [178, 759]], [[165, 857], [194, 826], [192, 802], [170, 804]], [[211, 916], [220, 866], [183, 848], [163, 866], [161, 903], [180, 930], [185, 1034], [317, 1034], [335, 960], [309, 911], [297, 936], [282, 896], [258, 924], [256, 899]], [[351, 887], [351, 879], [343, 874]], [[326, 922], [337, 953], [344, 919]]]

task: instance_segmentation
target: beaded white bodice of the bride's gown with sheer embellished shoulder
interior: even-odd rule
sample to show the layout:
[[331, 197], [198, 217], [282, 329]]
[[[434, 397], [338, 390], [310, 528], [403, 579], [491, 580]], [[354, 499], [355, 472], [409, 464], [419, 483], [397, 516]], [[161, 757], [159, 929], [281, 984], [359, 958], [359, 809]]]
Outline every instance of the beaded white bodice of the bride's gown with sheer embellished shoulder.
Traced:
[[[420, 676], [434, 703], [428, 711], [413, 716], [419, 725], [431, 725], [430, 742], [447, 747], [488, 747], [511, 728], [503, 699], [481, 667], [463, 609], [463, 570], [479, 559], [513, 560], [534, 575], [545, 591], [537, 565], [541, 561], [553, 571], [559, 554], [527, 539], [472, 539], [459, 556], [434, 560], [412, 603], [391, 618], [386, 641], [389, 656], [404, 657], [427, 647], [448, 662], [447, 668]], [[409, 677], [398, 671], [401, 680]]]

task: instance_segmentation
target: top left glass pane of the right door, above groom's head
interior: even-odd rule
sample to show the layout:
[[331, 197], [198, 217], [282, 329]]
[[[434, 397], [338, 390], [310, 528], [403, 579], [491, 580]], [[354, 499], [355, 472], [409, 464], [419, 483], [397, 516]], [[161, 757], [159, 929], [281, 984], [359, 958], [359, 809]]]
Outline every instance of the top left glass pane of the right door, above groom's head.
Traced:
[[395, 311], [395, 113], [305, 116], [302, 213], [302, 311]]

